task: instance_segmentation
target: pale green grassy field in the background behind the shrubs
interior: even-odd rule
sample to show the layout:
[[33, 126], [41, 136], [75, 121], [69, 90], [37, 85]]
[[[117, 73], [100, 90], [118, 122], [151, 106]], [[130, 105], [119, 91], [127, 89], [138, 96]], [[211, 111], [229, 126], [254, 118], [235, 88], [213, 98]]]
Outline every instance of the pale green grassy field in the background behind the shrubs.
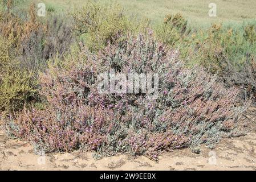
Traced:
[[[37, 0], [36, 0], [37, 1]], [[83, 6], [82, 0], [43, 0], [48, 9], [67, 12], [75, 6]], [[99, 0], [101, 3], [111, 2]], [[112, 1], [115, 2], [115, 1]], [[148, 18], [153, 23], [160, 22], [166, 14], [181, 13], [189, 20], [191, 26], [209, 26], [213, 22], [237, 23], [256, 18], [255, 0], [118, 0], [128, 15]], [[209, 17], [209, 3], [216, 3], [217, 17]]]

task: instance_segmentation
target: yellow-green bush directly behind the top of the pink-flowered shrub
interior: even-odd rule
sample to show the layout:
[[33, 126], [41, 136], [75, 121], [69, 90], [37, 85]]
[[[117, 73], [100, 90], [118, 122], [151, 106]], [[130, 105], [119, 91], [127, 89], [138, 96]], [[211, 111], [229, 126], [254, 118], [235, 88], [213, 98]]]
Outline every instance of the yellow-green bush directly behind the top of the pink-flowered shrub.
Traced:
[[136, 23], [129, 19], [120, 5], [100, 5], [88, 2], [82, 9], [71, 13], [74, 31], [91, 51], [98, 51], [108, 43], [113, 44], [124, 35], [147, 27], [147, 22]]

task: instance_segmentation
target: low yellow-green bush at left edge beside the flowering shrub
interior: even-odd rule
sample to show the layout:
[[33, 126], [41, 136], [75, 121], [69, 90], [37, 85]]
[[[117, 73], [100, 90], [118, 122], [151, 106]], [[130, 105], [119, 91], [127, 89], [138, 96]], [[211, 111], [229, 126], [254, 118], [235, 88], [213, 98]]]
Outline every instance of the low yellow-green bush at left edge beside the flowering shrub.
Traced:
[[21, 109], [36, 94], [32, 73], [20, 67], [13, 51], [11, 40], [0, 36], [0, 111]]

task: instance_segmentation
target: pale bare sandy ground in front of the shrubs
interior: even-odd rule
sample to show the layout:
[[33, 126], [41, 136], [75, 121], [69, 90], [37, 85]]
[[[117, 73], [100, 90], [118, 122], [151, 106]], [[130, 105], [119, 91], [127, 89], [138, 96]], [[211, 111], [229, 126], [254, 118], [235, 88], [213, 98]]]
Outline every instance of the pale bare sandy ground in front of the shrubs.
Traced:
[[121, 154], [95, 160], [91, 153], [35, 155], [29, 143], [10, 140], [0, 131], [0, 170], [256, 170], [256, 134], [222, 140], [201, 154], [189, 149], [167, 152], [158, 162]]

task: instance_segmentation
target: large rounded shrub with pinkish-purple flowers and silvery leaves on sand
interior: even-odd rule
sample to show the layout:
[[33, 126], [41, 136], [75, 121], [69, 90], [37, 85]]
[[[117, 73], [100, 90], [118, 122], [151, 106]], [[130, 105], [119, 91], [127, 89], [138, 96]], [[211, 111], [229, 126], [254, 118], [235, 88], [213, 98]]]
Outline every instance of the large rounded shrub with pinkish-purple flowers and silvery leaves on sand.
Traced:
[[[96, 156], [129, 152], [156, 160], [162, 151], [201, 143], [213, 148], [223, 137], [243, 134], [243, 106], [237, 89], [225, 89], [201, 68], [186, 69], [178, 51], [151, 36], [128, 36], [92, 54], [85, 47], [51, 64], [40, 76], [43, 110], [24, 110], [6, 118], [10, 135], [31, 141], [37, 151], [96, 151]], [[158, 73], [159, 96], [99, 94], [97, 75]]]

